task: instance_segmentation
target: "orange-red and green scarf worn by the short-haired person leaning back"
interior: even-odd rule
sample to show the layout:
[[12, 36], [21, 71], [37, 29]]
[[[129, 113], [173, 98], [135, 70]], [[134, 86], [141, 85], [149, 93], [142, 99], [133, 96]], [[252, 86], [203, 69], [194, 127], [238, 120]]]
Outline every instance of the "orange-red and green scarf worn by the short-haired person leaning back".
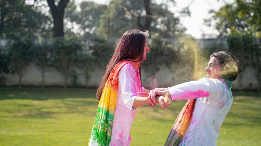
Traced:
[[[232, 86], [232, 82], [227, 78], [221, 78], [220, 81], [226, 83], [229, 88]], [[173, 127], [170, 130], [170, 134], [165, 142], [165, 146], [178, 146], [184, 134], [188, 130], [188, 126], [192, 120], [192, 115], [195, 108], [196, 99], [188, 100], [181, 112], [179, 113]]]

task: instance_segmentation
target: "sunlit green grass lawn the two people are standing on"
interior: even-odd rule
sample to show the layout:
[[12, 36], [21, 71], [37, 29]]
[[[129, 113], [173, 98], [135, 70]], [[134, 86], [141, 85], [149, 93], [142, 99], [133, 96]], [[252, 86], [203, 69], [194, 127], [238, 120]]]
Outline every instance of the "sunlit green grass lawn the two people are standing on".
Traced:
[[[234, 93], [218, 146], [261, 145], [261, 94]], [[186, 101], [168, 109], [139, 107], [131, 128], [132, 146], [162, 146]], [[0, 90], [1, 146], [86, 146], [98, 102], [92, 89]]]

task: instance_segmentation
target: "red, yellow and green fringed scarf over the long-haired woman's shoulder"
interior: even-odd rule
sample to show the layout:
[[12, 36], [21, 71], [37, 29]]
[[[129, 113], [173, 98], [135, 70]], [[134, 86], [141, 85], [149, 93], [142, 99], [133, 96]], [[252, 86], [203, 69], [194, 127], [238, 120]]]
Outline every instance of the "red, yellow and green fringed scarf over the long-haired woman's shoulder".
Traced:
[[99, 101], [99, 106], [90, 137], [90, 139], [93, 138], [93, 141], [97, 141], [100, 146], [108, 146], [111, 141], [112, 125], [118, 92], [119, 72], [123, 65], [128, 63], [132, 64], [135, 70], [137, 70], [139, 62], [133, 61], [137, 60], [124, 60], [116, 64], [106, 81], [101, 99]]

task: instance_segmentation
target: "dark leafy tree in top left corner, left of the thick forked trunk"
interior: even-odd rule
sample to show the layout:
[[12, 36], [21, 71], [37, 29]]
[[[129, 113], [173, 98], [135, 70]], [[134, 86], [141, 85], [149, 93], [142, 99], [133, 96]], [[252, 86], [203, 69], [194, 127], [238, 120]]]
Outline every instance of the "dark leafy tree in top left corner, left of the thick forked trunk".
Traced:
[[33, 4], [25, 0], [0, 2], [0, 37], [49, 37], [51, 20], [41, 12], [40, 0]]

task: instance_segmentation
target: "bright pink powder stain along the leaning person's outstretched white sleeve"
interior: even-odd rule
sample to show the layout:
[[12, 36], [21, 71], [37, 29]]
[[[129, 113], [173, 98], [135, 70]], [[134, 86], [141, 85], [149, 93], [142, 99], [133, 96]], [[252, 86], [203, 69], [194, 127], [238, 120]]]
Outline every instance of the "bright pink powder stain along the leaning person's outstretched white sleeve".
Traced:
[[182, 100], [182, 99], [196, 99], [201, 97], [208, 97], [209, 92], [198, 89], [197, 91], [184, 91], [180, 94], [173, 95], [172, 100]]

